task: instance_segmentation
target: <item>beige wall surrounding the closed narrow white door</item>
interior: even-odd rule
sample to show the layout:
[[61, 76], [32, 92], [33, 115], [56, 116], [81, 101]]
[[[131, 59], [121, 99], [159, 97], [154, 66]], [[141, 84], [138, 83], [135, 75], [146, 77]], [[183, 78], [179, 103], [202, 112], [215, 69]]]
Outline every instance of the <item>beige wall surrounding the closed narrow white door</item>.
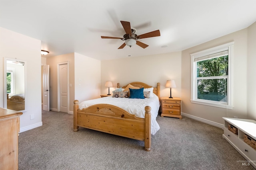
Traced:
[[74, 104], [74, 53], [58, 55], [46, 59], [46, 64], [49, 65], [49, 82], [50, 82], [50, 109], [58, 111], [58, 76], [57, 65], [58, 63], [69, 62], [69, 111], [73, 111]]

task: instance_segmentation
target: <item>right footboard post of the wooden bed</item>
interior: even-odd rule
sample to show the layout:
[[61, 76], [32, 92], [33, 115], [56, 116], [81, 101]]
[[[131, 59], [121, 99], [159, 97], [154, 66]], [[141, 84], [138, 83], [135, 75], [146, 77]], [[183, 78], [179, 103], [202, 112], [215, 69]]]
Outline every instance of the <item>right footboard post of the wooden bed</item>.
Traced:
[[150, 151], [151, 149], [151, 107], [145, 107], [145, 147], [144, 150]]

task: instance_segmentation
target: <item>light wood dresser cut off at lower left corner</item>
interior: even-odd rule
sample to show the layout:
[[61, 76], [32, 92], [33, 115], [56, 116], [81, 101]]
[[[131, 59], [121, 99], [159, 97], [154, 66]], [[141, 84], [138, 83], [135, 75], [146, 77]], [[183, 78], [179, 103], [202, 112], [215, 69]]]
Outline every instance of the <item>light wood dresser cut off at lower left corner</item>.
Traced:
[[0, 170], [18, 169], [18, 133], [22, 112], [0, 107]]

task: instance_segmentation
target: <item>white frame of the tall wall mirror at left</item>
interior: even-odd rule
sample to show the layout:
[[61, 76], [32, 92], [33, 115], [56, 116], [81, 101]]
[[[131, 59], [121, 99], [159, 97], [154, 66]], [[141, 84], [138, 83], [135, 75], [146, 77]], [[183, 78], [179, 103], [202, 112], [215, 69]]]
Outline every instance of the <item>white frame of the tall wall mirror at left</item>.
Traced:
[[19, 60], [17, 58], [11, 59], [4, 57], [4, 108], [7, 109], [7, 86], [6, 86], [6, 72], [7, 72], [7, 60], [10, 61], [20, 61], [24, 63], [24, 96], [25, 96], [25, 109], [18, 110], [20, 112], [27, 111], [27, 63], [26, 61]]

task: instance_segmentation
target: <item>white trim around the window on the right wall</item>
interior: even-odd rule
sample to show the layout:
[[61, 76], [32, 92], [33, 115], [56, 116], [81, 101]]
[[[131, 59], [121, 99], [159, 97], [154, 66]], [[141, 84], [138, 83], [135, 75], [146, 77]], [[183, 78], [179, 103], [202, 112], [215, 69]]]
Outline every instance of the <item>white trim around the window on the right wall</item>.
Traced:
[[[224, 45], [220, 45], [217, 47], [213, 47], [210, 49], [206, 49], [204, 51], [199, 51], [197, 53], [193, 53], [190, 55], [191, 57], [191, 103], [195, 104], [203, 104], [208, 106], [215, 106], [215, 107], [222, 107], [227, 109], [233, 108], [232, 103], [232, 58], [233, 58], [233, 46], [234, 42], [226, 43]], [[197, 78], [196, 76], [196, 62], [194, 60], [196, 58], [204, 57], [206, 55], [211, 55], [213, 53], [218, 53], [220, 51], [223, 51], [223, 49], [228, 50], [228, 82], [227, 82], [227, 102], [218, 102], [218, 101], [211, 101], [211, 100], [202, 100], [197, 99]]]

